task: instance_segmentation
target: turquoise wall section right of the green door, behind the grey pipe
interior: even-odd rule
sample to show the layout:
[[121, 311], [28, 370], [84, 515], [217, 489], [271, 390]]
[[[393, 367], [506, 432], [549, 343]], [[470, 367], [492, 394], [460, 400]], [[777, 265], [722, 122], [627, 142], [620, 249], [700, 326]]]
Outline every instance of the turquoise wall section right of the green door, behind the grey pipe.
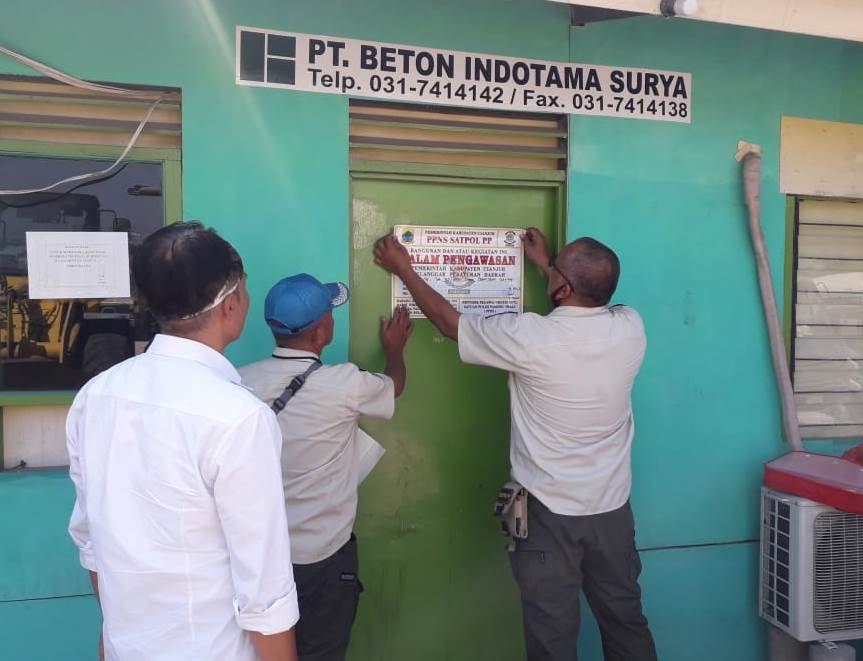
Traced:
[[[574, 61], [692, 73], [688, 126], [572, 118], [569, 233], [615, 247], [617, 299], [635, 306], [647, 329], [634, 396], [638, 543], [687, 549], [643, 553], [661, 656], [760, 659], [751, 540], [762, 464], [786, 446], [732, 157], [740, 139], [763, 147], [762, 222], [781, 305], [780, 118], [861, 121], [863, 48], [649, 17], [574, 27], [570, 39]], [[734, 634], [715, 636], [719, 629]]]

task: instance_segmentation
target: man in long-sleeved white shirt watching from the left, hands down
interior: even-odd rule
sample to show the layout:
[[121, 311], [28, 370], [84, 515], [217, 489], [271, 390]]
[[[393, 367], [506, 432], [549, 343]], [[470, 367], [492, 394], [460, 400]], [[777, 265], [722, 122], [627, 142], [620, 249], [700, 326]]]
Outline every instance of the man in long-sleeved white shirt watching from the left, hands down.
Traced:
[[299, 618], [275, 416], [224, 357], [249, 308], [240, 256], [199, 223], [134, 259], [160, 321], [91, 380], [66, 423], [69, 531], [108, 661], [296, 661]]

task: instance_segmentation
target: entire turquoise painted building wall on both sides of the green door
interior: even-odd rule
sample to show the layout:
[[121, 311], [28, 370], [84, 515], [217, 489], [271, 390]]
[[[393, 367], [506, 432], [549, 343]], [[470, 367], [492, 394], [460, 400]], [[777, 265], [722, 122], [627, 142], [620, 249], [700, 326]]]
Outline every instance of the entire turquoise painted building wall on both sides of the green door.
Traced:
[[[185, 217], [217, 227], [248, 262], [255, 302], [238, 363], [269, 350], [256, 320], [272, 281], [348, 278], [349, 191], [346, 99], [235, 86], [236, 24], [691, 72], [689, 126], [573, 118], [569, 231], [614, 245], [618, 298], [647, 324], [633, 502], [661, 658], [763, 658], [751, 540], [761, 463], [784, 447], [731, 156], [740, 138], [764, 146], [781, 289], [779, 118], [863, 121], [860, 46], [646, 18], [570, 29], [567, 8], [543, 0], [0, 0], [0, 15], [0, 43], [69, 73], [182, 88]], [[29, 73], [8, 60], [0, 72]], [[338, 324], [334, 360], [346, 356], [347, 314]], [[90, 658], [98, 614], [65, 534], [71, 503], [62, 474], [0, 475], [0, 640], [13, 641], [0, 658]], [[588, 624], [583, 658], [598, 650]]]

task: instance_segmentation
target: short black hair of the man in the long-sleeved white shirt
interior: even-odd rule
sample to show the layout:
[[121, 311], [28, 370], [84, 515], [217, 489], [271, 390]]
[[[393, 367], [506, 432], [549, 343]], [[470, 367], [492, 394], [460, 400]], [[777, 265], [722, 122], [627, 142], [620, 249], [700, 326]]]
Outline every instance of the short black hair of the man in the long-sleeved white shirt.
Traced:
[[136, 252], [132, 269], [150, 311], [163, 322], [201, 312], [244, 272], [234, 247], [196, 221], [153, 232]]

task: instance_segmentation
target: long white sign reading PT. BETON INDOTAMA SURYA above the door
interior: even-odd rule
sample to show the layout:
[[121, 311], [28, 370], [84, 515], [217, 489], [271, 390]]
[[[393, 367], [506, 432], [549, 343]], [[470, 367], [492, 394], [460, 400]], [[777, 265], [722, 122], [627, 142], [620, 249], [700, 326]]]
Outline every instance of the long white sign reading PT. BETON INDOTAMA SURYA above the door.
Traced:
[[237, 26], [238, 85], [688, 124], [692, 75]]

